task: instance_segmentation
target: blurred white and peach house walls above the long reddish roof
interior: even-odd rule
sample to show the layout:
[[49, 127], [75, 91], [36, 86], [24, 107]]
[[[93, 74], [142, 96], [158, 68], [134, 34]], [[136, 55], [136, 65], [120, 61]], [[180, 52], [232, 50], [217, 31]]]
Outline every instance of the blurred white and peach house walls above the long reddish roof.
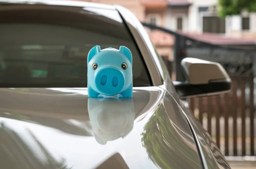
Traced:
[[191, 33], [207, 32], [230, 37], [256, 38], [256, 13], [243, 13], [221, 19], [217, 13], [218, 0], [142, 0], [142, 2], [146, 21], [159, 26]]

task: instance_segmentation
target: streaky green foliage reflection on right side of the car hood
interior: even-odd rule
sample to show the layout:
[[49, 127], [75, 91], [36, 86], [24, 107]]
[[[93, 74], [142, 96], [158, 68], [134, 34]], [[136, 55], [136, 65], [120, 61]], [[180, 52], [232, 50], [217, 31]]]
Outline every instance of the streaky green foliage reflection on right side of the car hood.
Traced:
[[[195, 144], [190, 142], [191, 135], [184, 133], [170, 120], [164, 106], [158, 107], [141, 135], [148, 157], [161, 169], [201, 168]], [[180, 159], [187, 160], [173, 163]]]

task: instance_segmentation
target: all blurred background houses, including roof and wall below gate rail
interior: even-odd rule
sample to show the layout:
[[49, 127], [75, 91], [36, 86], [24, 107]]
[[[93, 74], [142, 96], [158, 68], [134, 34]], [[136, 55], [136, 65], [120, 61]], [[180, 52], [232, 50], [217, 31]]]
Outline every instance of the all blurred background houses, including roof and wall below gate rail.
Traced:
[[[187, 36], [217, 45], [255, 45], [256, 13], [218, 17], [218, 0], [81, 0], [118, 4], [140, 21], [180, 31]], [[174, 37], [157, 30], [148, 32], [158, 53], [173, 60]]]

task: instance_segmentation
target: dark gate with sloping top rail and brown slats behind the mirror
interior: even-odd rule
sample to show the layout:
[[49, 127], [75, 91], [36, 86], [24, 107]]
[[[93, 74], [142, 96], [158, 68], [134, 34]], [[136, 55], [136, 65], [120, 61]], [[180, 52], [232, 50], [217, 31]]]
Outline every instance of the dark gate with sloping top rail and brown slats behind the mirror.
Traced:
[[[256, 46], [229, 47], [202, 42], [169, 29], [143, 23], [175, 37], [174, 63], [163, 58], [173, 80], [184, 81], [180, 65], [184, 57], [221, 62], [232, 78], [232, 92], [192, 98], [190, 108], [224, 155], [256, 155], [254, 75]], [[175, 65], [174, 67], [172, 65]], [[175, 68], [175, 69], [173, 69]], [[172, 72], [174, 70], [174, 72]]]

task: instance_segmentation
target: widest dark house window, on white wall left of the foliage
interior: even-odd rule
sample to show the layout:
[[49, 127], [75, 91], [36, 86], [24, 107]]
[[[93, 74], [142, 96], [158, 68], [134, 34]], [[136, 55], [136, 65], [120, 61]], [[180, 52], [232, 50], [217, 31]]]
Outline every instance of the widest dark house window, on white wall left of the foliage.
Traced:
[[203, 17], [203, 32], [224, 34], [226, 32], [225, 19], [219, 17]]

